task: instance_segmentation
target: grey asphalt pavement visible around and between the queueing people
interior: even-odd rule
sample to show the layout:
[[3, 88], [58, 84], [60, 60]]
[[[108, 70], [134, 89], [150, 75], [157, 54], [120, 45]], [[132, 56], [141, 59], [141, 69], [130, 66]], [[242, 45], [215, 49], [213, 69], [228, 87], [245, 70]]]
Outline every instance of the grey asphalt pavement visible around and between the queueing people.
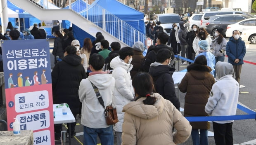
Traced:
[[[241, 88], [242, 92], [239, 94], [239, 102], [246, 105], [251, 110], [256, 111], [256, 45], [247, 44], [247, 53], [244, 57], [244, 60], [253, 62], [254, 64], [244, 63], [242, 65], [242, 73], [240, 84], [244, 85], [244, 88]], [[51, 45], [51, 44], [50, 44]], [[52, 68], [54, 67], [53, 63], [54, 57], [51, 54], [51, 64]], [[225, 57], [225, 61], [228, 61], [228, 58]], [[181, 63], [181, 62], [179, 62]], [[180, 70], [183, 70], [187, 65], [180, 64]], [[176, 70], [178, 70], [178, 61], [176, 61]], [[248, 93], [247, 93], [248, 92]], [[181, 107], [184, 107], [184, 98], [185, 93], [177, 91], [176, 94], [179, 94]], [[237, 109], [237, 115], [245, 115], [246, 113]], [[77, 117], [78, 118], [78, 117]], [[76, 137], [71, 138], [72, 145], [83, 145], [83, 125], [80, 124], [81, 119], [78, 118], [76, 125]], [[66, 130], [65, 126], [63, 129]], [[256, 145], [256, 121], [255, 119], [245, 119], [245, 120], [235, 120], [233, 123], [233, 140], [235, 145]], [[212, 123], [211, 129], [213, 131]], [[215, 145], [214, 137], [208, 137], [209, 145]], [[67, 139], [66, 145], [68, 145], [69, 139]], [[100, 140], [97, 140], [98, 145], [100, 145]], [[60, 141], [55, 142], [56, 145], [61, 145]], [[114, 145], [116, 145], [116, 138], [114, 138]], [[180, 145], [192, 145], [192, 138], [190, 138]]]

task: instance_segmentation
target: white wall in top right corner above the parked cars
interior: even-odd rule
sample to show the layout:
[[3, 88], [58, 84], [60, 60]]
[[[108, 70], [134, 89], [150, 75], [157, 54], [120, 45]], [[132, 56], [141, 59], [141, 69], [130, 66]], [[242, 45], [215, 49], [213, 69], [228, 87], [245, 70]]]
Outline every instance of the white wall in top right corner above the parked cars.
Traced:
[[251, 0], [229, 0], [229, 8], [241, 8], [242, 11], [251, 13]]

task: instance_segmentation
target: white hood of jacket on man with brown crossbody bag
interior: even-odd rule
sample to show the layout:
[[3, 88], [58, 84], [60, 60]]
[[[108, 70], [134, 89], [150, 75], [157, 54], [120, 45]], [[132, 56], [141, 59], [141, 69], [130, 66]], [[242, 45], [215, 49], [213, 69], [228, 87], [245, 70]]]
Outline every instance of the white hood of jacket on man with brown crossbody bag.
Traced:
[[109, 86], [111, 86], [111, 83], [113, 83], [112, 79], [112, 75], [107, 73], [90, 75], [88, 77], [88, 80], [90, 80], [90, 82], [95, 84], [98, 89], [102, 90], [107, 89]]

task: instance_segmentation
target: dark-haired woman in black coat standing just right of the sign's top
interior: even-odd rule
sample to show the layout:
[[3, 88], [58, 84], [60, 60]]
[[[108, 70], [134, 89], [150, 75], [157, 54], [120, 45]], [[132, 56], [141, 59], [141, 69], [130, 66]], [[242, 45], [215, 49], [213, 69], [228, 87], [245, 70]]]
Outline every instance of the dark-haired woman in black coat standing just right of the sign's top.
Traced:
[[52, 54], [54, 55], [54, 64], [56, 64], [58, 62], [57, 56], [59, 56], [59, 58], [62, 59], [64, 54], [62, 49], [63, 35], [59, 31], [55, 31], [54, 35], [55, 35], [55, 39], [53, 43]]

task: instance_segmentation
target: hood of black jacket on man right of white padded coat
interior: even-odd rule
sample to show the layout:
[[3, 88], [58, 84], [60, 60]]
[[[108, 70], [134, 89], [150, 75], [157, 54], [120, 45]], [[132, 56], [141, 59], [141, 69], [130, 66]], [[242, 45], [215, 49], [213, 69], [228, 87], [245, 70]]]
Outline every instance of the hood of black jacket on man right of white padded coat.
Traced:
[[171, 73], [172, 71], [175, 71], [175, 69], [171, 68], [170, 65], [162, 65], [161, 63], [158, 63], [158, 62], [151, 63], [149, 68], [149, 74], [152, 75], [152, 77], [159, 76], [163, 73], [172, 74]]

